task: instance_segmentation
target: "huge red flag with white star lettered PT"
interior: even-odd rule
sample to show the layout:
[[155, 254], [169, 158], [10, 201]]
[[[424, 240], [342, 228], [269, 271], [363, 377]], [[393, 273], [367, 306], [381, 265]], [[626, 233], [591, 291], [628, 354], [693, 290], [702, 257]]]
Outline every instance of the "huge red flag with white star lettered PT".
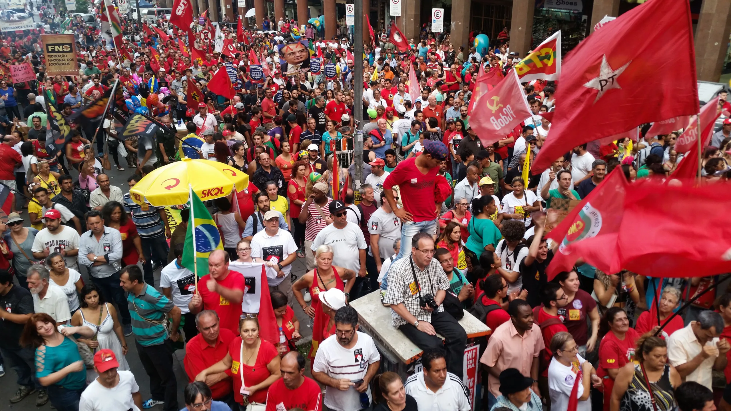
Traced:
[[697, 113], [696, 78], [688, 0], [647, 1], [620, 15], [563, 62], [555, 137], [543, 144], [534, 170], [583, 143]]

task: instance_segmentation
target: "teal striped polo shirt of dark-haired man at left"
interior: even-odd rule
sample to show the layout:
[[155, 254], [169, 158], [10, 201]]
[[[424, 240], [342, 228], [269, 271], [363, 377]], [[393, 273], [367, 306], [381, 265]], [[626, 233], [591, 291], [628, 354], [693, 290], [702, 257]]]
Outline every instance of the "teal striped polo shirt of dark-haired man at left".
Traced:
[[[167, 338], [162, 321], [165, 320], [165, 313], [173, 309], [173, 301], [168, 300], [155, 287], [145, 284], [140, 295], [127, 295], [127, 306], [132, 317], [132, 333], [135, 333], [137, 342], [145, 347], [162, 344]], [[161, 324], [155, 324], [158, 322]]]

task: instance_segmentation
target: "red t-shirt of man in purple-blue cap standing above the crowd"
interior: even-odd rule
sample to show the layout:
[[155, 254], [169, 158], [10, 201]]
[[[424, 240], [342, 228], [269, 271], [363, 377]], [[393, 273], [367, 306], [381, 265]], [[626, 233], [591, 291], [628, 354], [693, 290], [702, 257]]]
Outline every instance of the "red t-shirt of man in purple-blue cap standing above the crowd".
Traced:
[[398, 163], [383, 182], [383, 188], [391, 189], [399, 186], [404, 209], [412, 214], [414, 222], [436, 219], [434, 205], [434, 185], [439, 167], [434, 167], [426, 174], [416, 166], [416, 158], [405, 159]]

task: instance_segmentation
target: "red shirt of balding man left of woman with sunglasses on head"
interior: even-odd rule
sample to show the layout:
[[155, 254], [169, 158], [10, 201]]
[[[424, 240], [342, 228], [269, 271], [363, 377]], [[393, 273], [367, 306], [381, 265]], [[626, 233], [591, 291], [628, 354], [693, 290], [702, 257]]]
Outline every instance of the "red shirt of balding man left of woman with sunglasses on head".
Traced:
[[[219, 340], [216, 342], [215, 347], [208, 345], [208, 342], [205, 342], [200, 334], [190, 339], [186, 344], [185, 358], [183, 358], [185, 372], [188, 374], [188, 382], [193, 382], [195, 376], [204, 369], [226, 358], [229, 346], [235, 338], [236, 336], [230, 330], [221, 328]], [[231, 370], [226, 370], [226, 374], [231, 377]], [[227, 396], [231, 392], [231, 382], [229, 380], [216, 382], [211, 386], [211, 392], [213, 398]]]

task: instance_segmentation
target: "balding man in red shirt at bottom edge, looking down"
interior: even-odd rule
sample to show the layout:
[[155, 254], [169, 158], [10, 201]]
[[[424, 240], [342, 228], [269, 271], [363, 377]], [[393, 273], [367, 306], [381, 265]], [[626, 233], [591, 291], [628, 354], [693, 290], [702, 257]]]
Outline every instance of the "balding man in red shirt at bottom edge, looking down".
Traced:
[[[281, 378], [269, 387], [266, 411], [322, 410], [319, 385], [305, 377], [305, 358], [298, 351], [287, 352], [279, 363]], [[280, 407], [281, 405], [281, 407]]]

